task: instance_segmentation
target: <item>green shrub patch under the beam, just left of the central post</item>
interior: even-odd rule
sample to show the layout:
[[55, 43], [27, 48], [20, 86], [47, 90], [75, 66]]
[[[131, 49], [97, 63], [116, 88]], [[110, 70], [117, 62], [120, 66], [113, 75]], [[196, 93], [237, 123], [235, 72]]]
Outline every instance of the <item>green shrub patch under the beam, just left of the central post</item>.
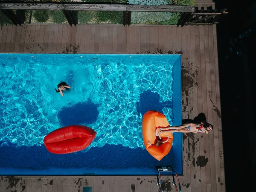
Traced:
[[122, 24], [122, 12], [96, 12], [96, 23]]

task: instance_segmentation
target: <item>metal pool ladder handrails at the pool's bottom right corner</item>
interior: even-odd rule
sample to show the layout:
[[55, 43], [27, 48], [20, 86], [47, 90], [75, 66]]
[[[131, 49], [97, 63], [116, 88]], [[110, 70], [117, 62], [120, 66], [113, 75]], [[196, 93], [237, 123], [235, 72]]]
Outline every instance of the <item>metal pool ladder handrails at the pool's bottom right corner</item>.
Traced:
[[[171, 166], [156, 166], [156, 168], [157, 168], [157, 171], [158, 171], [158, 174], [159, 174], [159, 175], [157, 175], [157, 185], [159, 187], [159, 192], [163, 192], [162, 177], [161, 177], [160, 172], [175, 172], [175, 170], [172, 169]], [[176, 192], [181, 192], [180, 180], [179, 180], [179, 177], [178, 177], [176, 172], [175, 172], [175, 175], [176, 175], [176, 178], [177, 178], [177, 181], [178, 181], [179, 190], [177, 188], [174, 175], [172, 175], [172, 179], [173, 179], [172, 185], [175, 186]]]

